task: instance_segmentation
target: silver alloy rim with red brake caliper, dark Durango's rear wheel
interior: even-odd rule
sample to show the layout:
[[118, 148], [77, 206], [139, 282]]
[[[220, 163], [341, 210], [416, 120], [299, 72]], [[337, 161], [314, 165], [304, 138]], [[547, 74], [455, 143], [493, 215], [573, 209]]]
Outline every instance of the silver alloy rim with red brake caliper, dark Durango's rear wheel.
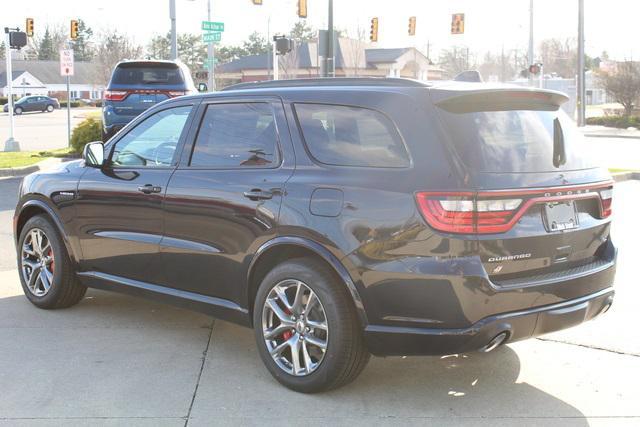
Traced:
[[318, 296], [300, 280], [276, 284], [262, 308], [269, 354], [286, 373], [305, 376], [322, 363], [329, 342], [327, 316]]

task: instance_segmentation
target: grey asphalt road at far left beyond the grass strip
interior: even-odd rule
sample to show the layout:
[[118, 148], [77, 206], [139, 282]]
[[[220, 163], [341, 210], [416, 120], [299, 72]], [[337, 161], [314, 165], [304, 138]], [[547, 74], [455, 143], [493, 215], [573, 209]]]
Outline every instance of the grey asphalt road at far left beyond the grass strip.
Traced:
[[[84, 120], [83, 114], [99, 108], [72, 108], [71, 129]], [[67, 110], [52, 113], [23, 113], [14, 116], [14, 137], [22, 151], [55, 150], [67, 146]], [[0, 150], [9, 138], [9, 116], [0, 113]]]

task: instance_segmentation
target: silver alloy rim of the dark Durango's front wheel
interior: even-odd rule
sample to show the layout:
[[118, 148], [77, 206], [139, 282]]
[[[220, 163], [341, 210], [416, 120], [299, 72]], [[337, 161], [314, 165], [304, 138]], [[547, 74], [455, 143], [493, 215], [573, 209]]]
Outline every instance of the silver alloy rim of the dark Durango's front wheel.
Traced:
[[22, 243], [22, 278], [29, 291], [43, 297], [51, 289], [55, 261], [49, 237], [39, 228], [29, 231]]

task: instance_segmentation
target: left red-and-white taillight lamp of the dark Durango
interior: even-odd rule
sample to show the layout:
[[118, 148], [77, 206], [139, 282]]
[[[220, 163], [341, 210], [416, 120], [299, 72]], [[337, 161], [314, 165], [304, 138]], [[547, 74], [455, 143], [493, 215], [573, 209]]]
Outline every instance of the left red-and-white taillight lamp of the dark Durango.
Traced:
[[447, 233], [501, 233], [511, 228], [522, 199], [482, 199], [473, 193], [418, 193], [429, 225]]

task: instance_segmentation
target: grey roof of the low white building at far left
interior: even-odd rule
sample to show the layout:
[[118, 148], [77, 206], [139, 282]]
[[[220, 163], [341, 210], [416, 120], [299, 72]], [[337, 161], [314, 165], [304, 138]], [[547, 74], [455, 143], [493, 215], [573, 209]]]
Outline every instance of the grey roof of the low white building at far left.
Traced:
[[[60, 75], [60, 62], [58, 61], [12, 61], [12, 75], [15, 80], [20, 74], [28, 71], [33, 77], [44, 84], [64, 84], [66, 77]], [[90, 62], [76, 62], [74, 73], [71, 76], [72, 83], [94, 84], [96, 81], [95, 66]], [[0, 87], [7, 85], [6, 66], [4, 61], [0, 61]]]

